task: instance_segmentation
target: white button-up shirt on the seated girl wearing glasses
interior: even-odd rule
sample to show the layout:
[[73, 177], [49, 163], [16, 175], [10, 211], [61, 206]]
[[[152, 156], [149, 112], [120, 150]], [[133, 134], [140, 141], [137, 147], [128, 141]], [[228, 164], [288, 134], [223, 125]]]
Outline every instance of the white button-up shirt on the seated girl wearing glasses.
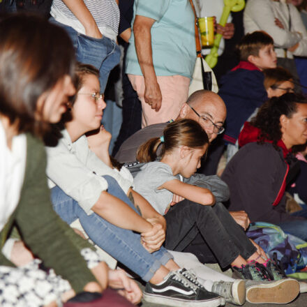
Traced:
[[87, 137], [82, 135], [71, 142], [65, 129], [57, 147], [46, 147], [47, 177], [49, 186], [59, 186], [67, 195], [76, 200], [87, 214], [98, 201], [100, 194], [107, 190], [107, 181], [103, 175], [110, 175], [117, 180], [125, 193], [133, 185], [133, 177], [126, 167], [121, 172], [103, 163], [89, 149]]

